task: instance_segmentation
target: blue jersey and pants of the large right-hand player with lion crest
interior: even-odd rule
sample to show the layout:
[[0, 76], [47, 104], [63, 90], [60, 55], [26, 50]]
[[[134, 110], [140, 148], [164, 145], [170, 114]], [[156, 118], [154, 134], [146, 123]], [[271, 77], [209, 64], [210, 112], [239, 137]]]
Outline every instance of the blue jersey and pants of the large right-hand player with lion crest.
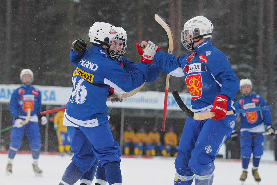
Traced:
[[[239, 90], [239, 80], [226, 55], [213, 47], [211, 40], [200, 43], [195, 52], [177, 58], [159, 50], [154, 61], [164, 72], [185, 77], [192, 111], [210, 112], [215, 97], [220, 94], [228, 98], [227, 110], [235, 109], [233, 98]], [[177, 173], [186, 176], [184, 180], [192, 180], [194, 174], [202, 176], [200, 179], [211, 177], [215, 168], [213, 161], [234, 126], [234, 115], [216, 121], [188, 117], [175, 160]]]

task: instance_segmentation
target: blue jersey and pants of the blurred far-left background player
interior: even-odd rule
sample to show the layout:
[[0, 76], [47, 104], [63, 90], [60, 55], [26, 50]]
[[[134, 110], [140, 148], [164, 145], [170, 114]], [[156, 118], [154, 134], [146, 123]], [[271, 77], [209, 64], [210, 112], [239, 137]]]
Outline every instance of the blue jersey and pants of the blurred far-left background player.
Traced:
[[[26, 86], [22, 84], [22, 86], [14, 90], [10, 99], [10, 113], [13, 115], [13, 124], [15, 118], [26, 119], [28, 107], [31, 108], [29, 123], [23, 125], [21, 128], [13, 128], [11, 130], [10, 148], [13, 150], [20, 148], [24, 131], [26, 131], [31, 149], [39, 151], [41, 148], [38, 126], [38, 112], [42, 111], [41, 92], [32, 85]], [[38, 158], [38, 156], [35, 158]]]

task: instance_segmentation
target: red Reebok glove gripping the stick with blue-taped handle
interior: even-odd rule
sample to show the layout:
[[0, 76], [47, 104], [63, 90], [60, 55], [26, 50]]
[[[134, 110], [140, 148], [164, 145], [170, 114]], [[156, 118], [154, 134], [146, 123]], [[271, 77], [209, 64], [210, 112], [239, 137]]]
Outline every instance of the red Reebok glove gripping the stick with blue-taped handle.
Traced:
[[220, 120], [226, 117], [228, 98], [224, 95], [217, 95], [215, 97], [213, 107], [210, 112], [214, 112], [213, 120]]

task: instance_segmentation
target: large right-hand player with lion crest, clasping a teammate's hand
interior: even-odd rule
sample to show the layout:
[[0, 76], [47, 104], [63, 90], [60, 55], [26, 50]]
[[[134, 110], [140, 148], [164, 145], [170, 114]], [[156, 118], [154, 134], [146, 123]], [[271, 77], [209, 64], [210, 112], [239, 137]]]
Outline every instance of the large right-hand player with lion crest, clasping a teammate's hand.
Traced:
[[[235, 126], [233, 98], [239, 90], [239, 80], [221, 51], [212, 46], [213, 25], [203, 16], [197, 16], [184, 24], [182, 43], [188, 55], [175, 57], [150, 49], [154, 62], [170, 75], [184, 77], [191, 94], [192, 111], [214, 112], [213, 119], [196, 121], [188, 117], [175, 160], [174, 184], [211, 185], [215, 169], [215, 157]], [[138, 49], [144, 54], [145, 49]]]

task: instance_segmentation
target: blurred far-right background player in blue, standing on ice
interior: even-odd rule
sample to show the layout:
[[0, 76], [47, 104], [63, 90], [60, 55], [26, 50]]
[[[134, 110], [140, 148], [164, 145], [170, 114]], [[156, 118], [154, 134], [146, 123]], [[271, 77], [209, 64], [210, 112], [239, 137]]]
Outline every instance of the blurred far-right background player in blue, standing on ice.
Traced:
[[[236, 109], [247, 109], [254, 107], [263, 107], [267, 106], [263, 98], [258, 95], [251, 93], [252, 92], [252, 82], [250, 79], [242, 79], [239, 82], [239, 90], [242, 94], [236, 101], [234, 107]], [[274, 134], [274, 130], [271, 126], [271, 113], [269, 110], [259, 111], [259, 112], [249, 112], [243, 113], [240, 117], [240, 135], [241, 137], [250, 136], [254, 134], [261, 134], [265, 132], [265, 126], [267, 127], [268, 132]], [[260, 182], [261, 178], [258, 173], [258, 166], [263, 155], [263, 146], [264, 146], [264, 136], [255, 136], [249, 138], [241, 138], [241, 161], [243, 172], [240, 176], [242, 183], [247, 178], [247, 168], [249, 165], [249, 160], [251, 153], [253, 153], [253, 168], [252, 175], [255, 178], [255, 181]]]

